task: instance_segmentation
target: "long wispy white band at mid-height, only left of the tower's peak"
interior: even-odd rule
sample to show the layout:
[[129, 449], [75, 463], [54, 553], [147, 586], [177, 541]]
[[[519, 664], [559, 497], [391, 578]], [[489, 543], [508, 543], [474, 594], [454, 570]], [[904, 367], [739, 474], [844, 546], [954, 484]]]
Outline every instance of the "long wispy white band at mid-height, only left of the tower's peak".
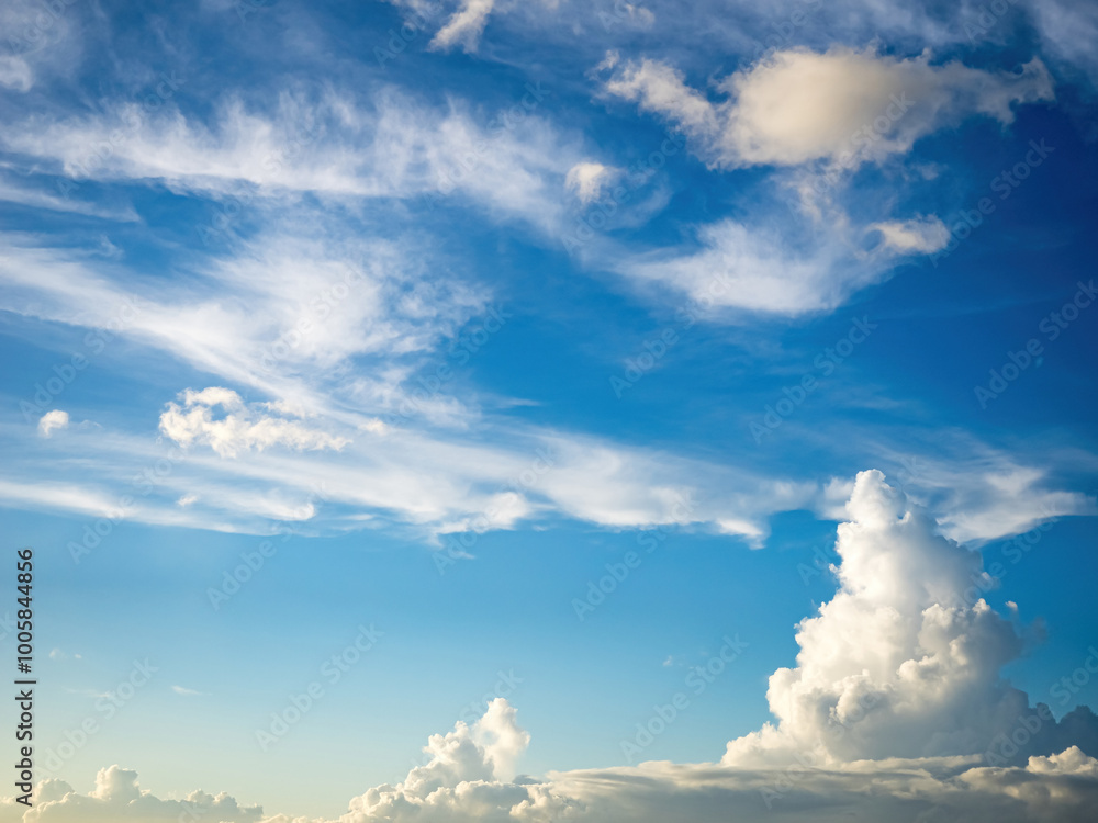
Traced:
[[[214, 401], [236, 410], [214, 414], [214, 408], [224, 408], [214, 407]], [[816, 494], [811, 482], [777, 481], [735, 466], [501, 421], [477, 427], [493, 436], [494, 443], [470, 442], [460, 429], [424, 430], [410, 418], [394, 420], [385, 430], [354, 435], [338, 452], [260, 451], [254, 448], [260, 433], [285, 433], [281, 427], [253, 430], [259, 419], [273, 417], [267, 405], [244, 404], [228, 390], [192, 392], [190, 406], [186, 394], [172, 405], [177, 410], [169, 407], [165, 413], [168, 433], [210, 449], [184, 451], [170, 440], [156, 444], [111, 430], [74, 431], [66, 449], [96, 465], [104, 483], [114, 483], [113, 497], [99, 488], [65, 486], [60, 470], [43, 467], [35, 454], [27, 454], [27, 469], [36, 466], [37, 480], [0, 481], [0, 501], [251, 533], [268, 533], [269, 519], [309, 520], [332, 533], [360, 528], [361, 517], [370, 517], [405, 530], [412, 527], [428, 540], [458, 531], [511, 529], [553, 515], [613, 528], [719, 522], [724, 533], [760, 545], [770, 514], [806, 508]], [[287, 419], [307, 430], [294, 431], [289, 442], [311, 442], [315, 432], [350, 439], [359, 430], [357, 419], [338, 414]], [[215, 444], [226, 453], [235, 450], [237, 458], [223, 459]], [[170, 467], [157, 471], [123, 511], [122, 499], [133, 497], [133, 477], [145, 476], [166, 456]], [[9, 467], [21, 472], [22, 465], [13, 460]], [[58, 482], [43, 480], [43, 474], [56, 474]], [[181, 506], [180, 498], [188, 497], [195, 499]]]

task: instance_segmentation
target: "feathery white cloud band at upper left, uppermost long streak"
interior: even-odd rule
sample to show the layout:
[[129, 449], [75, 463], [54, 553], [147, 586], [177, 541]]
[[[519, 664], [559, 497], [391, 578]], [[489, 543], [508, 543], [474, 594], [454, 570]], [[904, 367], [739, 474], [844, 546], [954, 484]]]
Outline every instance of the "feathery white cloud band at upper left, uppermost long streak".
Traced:
[[458, 100], [428, 108], [391, 89], [368, 103], [330, 89], [284, 91], [267, 106], [226, 95], [205, 116], [184, 115], [170, 101], [146, 112], [107, 100], [83, 115], [5, 122], [0, 146], [76, 180], [160, 181], [290, 205], [300, 192], [469, 198], [546, 229], [559, 217], [561, 181], [580, 159], [539, 116], [549, 93], [530, 83], [512, 105], [475, 116]]

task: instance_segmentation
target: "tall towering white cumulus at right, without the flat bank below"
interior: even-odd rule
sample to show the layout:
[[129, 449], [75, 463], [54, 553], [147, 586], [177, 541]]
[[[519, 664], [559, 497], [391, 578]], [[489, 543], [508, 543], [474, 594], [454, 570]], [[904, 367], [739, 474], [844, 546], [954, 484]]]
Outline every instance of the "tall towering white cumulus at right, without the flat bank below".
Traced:
[[[1057, 724], [1001, 681], [1021, 641], [973, 594], [994, 585], [978, 553], [940, 535], [877, 471], [858, 476], [847, 511], [839, 591], [802, 621], [797, 666], [770, 678], [777, 723], [730, 742], [726, 765], [987, 753], [1005, 762], [1061, 751], [1068, 731], [1079, 734], [1076, 721], [1098, 742], [1089, 712]], [[1035, 712], [1024, 745], [997, 751]]]

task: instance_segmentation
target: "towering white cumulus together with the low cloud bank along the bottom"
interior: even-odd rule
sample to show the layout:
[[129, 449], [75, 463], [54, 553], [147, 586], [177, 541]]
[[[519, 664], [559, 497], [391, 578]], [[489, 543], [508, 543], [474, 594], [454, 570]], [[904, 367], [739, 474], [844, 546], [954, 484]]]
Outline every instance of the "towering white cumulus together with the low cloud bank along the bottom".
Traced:
[[[351, 800], [339, 823], [1091, 820], [1098, 723], [1085, 707], [1057, 722], [1002, 680], [1021, 640], [977, 596], [994, 583], [979, 554], [878, 471], [858, 476], [847, 514], [839, 589], [800, 623], [797, 665], [770, 678], [776, 724], [731, 741], [720, 763], [514, 777], [529, 735], [501, 698], [432, 736], [423, 766]], [[87, 797], [53, 780], [38, 799], [22, 819], [0, 804], [0, 821], [152, 823], [181, 809], [117, 767]], [[187, 802], [210, 820], [261, 814], [224, 794]]]

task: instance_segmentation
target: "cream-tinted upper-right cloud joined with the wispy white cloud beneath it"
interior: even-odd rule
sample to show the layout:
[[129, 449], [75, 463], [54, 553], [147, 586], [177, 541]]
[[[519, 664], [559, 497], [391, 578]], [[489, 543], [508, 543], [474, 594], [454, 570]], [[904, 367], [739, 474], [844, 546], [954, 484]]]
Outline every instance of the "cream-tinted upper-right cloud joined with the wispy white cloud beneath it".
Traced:
[[839, 198], [853, 170], [906, 155], [920, 137], [968, 115], [1009, 123], [1012, 105], [1052, 99], [1037, 58], [1020, 74], [995, 74], [956, 61], [934, 66], [929, 53], [900, 59], [842, 46], [789, 49], [719, 82], [722, 102], [666, 64], [610, 55], [602, 68], [610, 71], [609, 94], [675, 123], [712, 166], [792, 167], [775, 180], [798, 193], [800, 208], [755, 202], [750, 222], [697, 227], [694, 250], [614, 250], [604, 256], [607, 268], [683, 293], [702, 308], [784, 315], [832, 311], [886, 279], [897, 260], [949, 240], [933, 214], [858, 224]]

